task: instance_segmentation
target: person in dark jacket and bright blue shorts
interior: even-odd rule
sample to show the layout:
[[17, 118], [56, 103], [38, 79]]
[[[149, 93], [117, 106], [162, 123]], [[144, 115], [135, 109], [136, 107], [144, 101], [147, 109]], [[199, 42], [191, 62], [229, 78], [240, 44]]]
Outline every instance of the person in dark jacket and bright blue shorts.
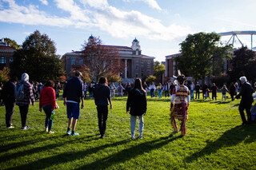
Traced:
[[[64, 105], [66, 106], [66, 113], [68, 121], [68, 128], [66, 131], [67, 135], [77, 136], [79, 133], [75, 133], [75, 127], [78, 122], [78, 118], [80, 116], [80, 109], [79, 104], [82, 101], [81, 109], [83, 109], [83, 83], [82, 83], [82, 73], [76, 72], [74, 77], [70, 78], [63, 90], [63, 97], [64, 97]], [[72, 124], [72, 132], [70, 132], [70, 127]]]

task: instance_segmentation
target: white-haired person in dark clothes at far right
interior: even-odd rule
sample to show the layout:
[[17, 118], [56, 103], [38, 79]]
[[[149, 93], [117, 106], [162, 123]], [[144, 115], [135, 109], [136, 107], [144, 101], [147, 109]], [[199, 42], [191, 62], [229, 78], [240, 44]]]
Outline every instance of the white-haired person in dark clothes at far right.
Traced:
[[[254, 89], [252, 88], [250, 83], [247, 82], [246, 77], [240, 77], [239, 80], [241, 81], [242, 84], [241, 91], [235, 98], [238, 99], [239, 97], [242, 97], [239, 105], [239, 112], [242, 118], [242, 125], [247, 125], [251, 123], [250, 107], [254, 101], [254, 98], [252, 96], [252, 94], [254, 93]], [[244, 109], [246, 109], [247, 121], [245, 113], [243, 112]]]

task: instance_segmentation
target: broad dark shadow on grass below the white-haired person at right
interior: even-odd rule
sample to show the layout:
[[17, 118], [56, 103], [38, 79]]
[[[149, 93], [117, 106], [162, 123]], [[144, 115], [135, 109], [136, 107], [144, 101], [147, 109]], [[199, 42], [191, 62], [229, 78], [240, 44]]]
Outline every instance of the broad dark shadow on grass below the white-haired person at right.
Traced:
[[241, 143], [245, 140], [246, 143], [251, 143], [256, 140], [256, 125], [240, 125], [230, 130], [227, 130], [215, 141], [206, 141], [207, 145], [201, 151], [194, 152], [191, 156], [185, 158], [186, 162], [193, 162], [198, 160], [199, 157], [210, 155], [218, 152], [218, 149], [223, 147], [230, 147]]

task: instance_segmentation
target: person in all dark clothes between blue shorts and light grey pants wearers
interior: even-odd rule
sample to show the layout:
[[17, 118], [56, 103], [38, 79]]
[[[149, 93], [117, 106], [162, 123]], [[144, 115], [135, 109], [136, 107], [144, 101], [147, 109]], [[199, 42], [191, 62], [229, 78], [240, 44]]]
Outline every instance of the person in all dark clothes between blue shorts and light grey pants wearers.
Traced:
[[107, 86], [106, 77], [101, 77], [94, 89], [94, 102], [95, 105], [97, 105], [98, 129], [101, 138], [104, 138], [106, 132], [106, 120], [109, 112], [107, 106], [110, 104], [110, 109], [113, 108], [110, 97], [110, 88]]

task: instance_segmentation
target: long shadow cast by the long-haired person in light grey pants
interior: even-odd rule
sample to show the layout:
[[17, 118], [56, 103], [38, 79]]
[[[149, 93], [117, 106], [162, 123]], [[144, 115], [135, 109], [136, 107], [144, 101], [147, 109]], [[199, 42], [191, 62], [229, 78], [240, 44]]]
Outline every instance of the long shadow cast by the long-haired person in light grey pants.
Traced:
[[[113, 144], [105, 144], [96, 148], [90, 148], [86, 150], [80, 150], [78, 152], [64, 152], [62, 154], [58, 154], [56, 156], [50, 156], [46, 157], [34, 162], [31, 162], [29, 164], [23, 164], [14, 168], [8, 168], [8, 169], [44, 169], [44, 168], [50, 168], [51, 166], [54, 166], [56, 164], [63, 164], [66, 162], [72, 162], [74, 160], [80, 160], [82, 158], [85, 158], [86, 156], [89, 156], [90, 154], [97, 153], [98, 151], [109, 148], [109, 147], [116, 147], [118, 145], [126, 144], [130, 140], [121, 140], [118, 142], [115, 142]], [[78, 140], [75, 141], [75, 143], [79, 142]], [[57, 147], [57, 146], [56, 146]], [[42, 148], [39, 148], [41, 151]]]

